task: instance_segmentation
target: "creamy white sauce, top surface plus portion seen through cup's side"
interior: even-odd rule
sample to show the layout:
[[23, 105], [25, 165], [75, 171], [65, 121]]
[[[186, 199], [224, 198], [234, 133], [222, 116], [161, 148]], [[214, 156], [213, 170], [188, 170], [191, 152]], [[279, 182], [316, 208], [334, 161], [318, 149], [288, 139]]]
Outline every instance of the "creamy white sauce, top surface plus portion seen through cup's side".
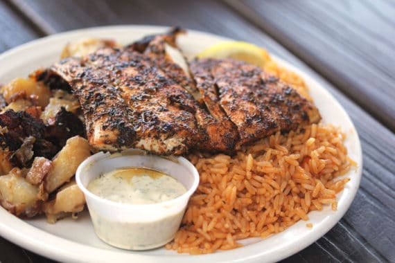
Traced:
[[[90, 181], [87, 189], [103, 199], [141, 207], [175, 199], [186, 192], [184, 185], [172, 176], [146, 167], [121, 167], [106, 172]], [[143, 221], [128, 220], [127, 208], [118, 219], [99, 214], [95, 209], [89, 208], [89, 212], [95, 232], [104, 242], [118, 248], [146, 250], [170, 242], [184, 215], [182, 209], [161, 216], [164, 208], [158, 209], [162, 212]]]

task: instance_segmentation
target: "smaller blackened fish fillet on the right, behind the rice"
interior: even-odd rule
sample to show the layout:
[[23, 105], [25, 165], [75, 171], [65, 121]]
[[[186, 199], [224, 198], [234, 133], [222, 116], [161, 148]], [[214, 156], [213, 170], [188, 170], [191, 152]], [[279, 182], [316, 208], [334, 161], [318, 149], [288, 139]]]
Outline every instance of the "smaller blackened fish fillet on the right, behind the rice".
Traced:
[[194, 60], [191, 72], [207, 100], [219, 105], [236, 125], [238, 145], [317, 123], [321, 118], [317, 108], [295, 89], [252, 64], [231, 59]]

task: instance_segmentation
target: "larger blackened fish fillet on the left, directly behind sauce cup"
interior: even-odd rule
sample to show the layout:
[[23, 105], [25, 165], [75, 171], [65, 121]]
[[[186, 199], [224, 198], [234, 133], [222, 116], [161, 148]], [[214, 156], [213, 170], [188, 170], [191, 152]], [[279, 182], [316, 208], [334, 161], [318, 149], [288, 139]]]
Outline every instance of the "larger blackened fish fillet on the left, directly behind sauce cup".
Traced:
[[193, 98], [145, 55], [103, 48], [51, 70], [78, 96], [94, 149], [182, 154], [202, 140]]

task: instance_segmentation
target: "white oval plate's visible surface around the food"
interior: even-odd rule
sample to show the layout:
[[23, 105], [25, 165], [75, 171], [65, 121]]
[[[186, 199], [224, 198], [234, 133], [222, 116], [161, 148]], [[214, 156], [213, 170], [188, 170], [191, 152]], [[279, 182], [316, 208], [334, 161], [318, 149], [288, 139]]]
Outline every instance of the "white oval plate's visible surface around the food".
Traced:
[[[106, 37], [127, 44], [144, 35], [164, 32], [164, 27], [154, 26], [111, 26], [75, 30], [38, 39], [0, 55], [0, 83], [13, 78], [25, 77], [40, 66], [49, 66], [60, 55], [67, 42], [82, 37]], [[222, 42], [224, 37], [188, 31], [179, 37], [179, 44], [186, 54], [193, 55], [202, 49]], [[337, 211], [326, 207], [321, 212], [310, 212], [308, 222], [313, 228], [306, 228], [306, 221], [267, 239], [246, 239], [245, 246], [231, 251], [219, 251], [210, 255], [185, 255], [160, 248], [152, 251], [134, 252], [113, 248], [101, 242], [94, 234], [87, 212], [77, 221], [64, 219], [56, 224], [46, 224], [44, 217], [21, 220], [0, 208], [0, 235], [6, 239], [62, 262], [274, 262], [288, 257], [315, 242], [339, 221], [356, 195], [362, 173], [362, 152], [357, 131], [342, 106], [306, 73], [276, 58], [278, 62], [301, 75], [308, 86], [315, 104], [322, 114], [324, 123], [339, 125], [346, 132], [346, 147], [349, 156], [358, 162], [358, 168], [346, 176], [351, 181], [337, 195]]]

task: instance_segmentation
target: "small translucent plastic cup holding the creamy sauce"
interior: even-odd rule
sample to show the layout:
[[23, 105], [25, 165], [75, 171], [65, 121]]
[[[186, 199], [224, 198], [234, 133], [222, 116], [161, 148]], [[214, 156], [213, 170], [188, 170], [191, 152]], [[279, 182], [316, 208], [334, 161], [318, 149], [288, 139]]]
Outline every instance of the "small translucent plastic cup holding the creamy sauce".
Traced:
[[[87, 185], [100, 174], [121, 167], [147, 167], [177, 179], [186, 192], [152, 204], [109, 201], [89, 192]], [[198, 188], [199, 174], [183, 157], [162, 157], [136, 149], [117, 154], [99, 152], [80, 164], [76, 181], [84, 192], [96, 235], [107, 244], [130, 250], [147, 250], [170, 242], [181, 224], [189, 198]]]

